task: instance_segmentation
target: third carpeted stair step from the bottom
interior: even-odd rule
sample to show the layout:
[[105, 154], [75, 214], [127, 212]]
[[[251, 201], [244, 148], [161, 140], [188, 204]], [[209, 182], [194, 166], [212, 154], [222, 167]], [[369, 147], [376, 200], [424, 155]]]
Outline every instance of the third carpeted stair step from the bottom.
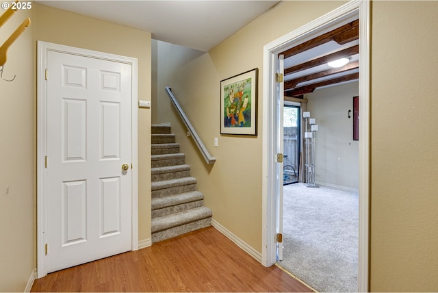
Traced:
[[183, 177], [178, 179], [155, 181], [151, 183], [152, 197], [163, 197], [196, 190], [196, 178]]

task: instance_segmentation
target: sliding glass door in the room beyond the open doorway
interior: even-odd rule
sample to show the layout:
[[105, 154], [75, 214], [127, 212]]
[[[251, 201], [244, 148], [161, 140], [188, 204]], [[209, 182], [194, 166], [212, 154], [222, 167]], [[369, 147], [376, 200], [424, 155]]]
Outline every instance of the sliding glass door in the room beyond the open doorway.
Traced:
[[283, 185], [296, 183], [300, 170], [300, 107], [283, 108]]

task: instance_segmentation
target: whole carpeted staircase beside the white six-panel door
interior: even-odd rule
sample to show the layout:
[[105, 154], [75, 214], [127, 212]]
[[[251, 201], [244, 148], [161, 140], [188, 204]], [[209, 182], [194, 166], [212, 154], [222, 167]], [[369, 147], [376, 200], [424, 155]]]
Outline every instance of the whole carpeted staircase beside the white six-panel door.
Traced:
[[203, 199], [170, 126], [153, 126], [152, 242], [211, 225], [211, 210]]

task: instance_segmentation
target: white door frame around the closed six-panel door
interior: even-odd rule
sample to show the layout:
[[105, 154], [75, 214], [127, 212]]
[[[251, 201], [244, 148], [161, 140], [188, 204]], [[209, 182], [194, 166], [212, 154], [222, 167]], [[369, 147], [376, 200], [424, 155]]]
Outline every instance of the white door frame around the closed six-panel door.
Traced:
[[47, 155], [47, 82], [45, 70], [47, 68], [48, 51], [80, 55], [88, 58], [109, 60], [131, 65], [131, 157], [132, 157], [132, 194], [131, 194], [131, 225], [132, 250], [138, 250], [138, 60], [121, 55], [79, 49], [75, 47], [38, 41], [37, 60], [37, 278], [47, 275], [45, 263], [45, 244], [47, 229], [47, 169], [45, 156]]

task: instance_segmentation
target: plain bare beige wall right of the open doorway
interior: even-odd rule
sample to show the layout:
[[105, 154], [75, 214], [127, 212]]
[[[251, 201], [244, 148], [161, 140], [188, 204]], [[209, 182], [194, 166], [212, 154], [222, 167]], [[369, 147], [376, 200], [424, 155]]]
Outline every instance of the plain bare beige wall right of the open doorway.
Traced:
[[372, 3], [373, 291], [438, 291], [437, 18], [437, 1]]

